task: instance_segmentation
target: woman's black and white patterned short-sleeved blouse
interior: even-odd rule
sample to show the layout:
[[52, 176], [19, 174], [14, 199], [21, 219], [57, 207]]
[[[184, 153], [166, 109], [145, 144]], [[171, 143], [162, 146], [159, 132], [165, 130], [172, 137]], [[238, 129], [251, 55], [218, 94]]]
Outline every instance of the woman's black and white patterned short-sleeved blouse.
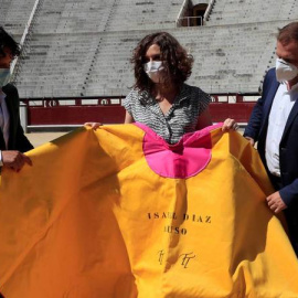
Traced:
[[167, 142], [175, 143], [185, 132], [195, 130], [198, 118], [210, 102], [210, 95], [198, 87], [183, 84], [166, 115], [147, 91], [131, 89], [124, 99], [124, 107], [136, 123], [150, 127]]

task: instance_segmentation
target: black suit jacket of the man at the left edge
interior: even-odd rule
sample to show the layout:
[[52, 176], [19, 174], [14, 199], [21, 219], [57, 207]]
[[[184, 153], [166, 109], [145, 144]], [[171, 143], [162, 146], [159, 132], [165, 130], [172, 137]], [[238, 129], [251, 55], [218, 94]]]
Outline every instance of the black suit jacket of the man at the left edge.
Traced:
[[33, 146], [24, 136], [24, 131], [20, 121], [20, 98], [18, 89], [8, 84], [2, 87], [2, 92], [7, 95], [6, 103], [10, 115], [10, 131], [9, 131], [9, 145], [6, 148], [3, 134], [0, 129], [0, 150], [18, 150], [25, 152], [33, 149]]

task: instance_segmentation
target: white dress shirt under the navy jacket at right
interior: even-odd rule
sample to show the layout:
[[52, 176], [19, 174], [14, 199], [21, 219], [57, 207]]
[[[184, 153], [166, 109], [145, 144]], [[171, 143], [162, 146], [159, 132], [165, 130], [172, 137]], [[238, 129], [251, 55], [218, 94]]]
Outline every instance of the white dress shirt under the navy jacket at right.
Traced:
[[265, 157], [270, 173], [277, 177], [280, 177], [279, 143], [297, 95], [298, 84], [290, 91], [287, 89], [287, 84], [280, 84], [269, 115]]

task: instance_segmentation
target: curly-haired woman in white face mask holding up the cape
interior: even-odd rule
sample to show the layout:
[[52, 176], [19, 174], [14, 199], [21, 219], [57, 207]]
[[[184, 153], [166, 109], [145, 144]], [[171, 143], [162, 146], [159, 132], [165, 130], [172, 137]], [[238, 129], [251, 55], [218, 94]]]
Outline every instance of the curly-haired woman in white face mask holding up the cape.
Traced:
[[[167, 142], [175, 143], [187, 134], [212, 125], [211, 97], [184, 82], [193, 58], [167, 32], [145, 36], [134, 51], [135, 85], [124, 100], [125, 124], [141, 123]], [[99, 124], [87, 124], [97, 128]], [[223, 130], [236, 129], [226, 119]]]

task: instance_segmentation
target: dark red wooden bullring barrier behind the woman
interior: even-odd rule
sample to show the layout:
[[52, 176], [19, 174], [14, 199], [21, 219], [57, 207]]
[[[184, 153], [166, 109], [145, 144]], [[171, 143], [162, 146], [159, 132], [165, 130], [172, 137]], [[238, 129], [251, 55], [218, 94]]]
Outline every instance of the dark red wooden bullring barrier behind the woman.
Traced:
[[[255, 96], [256, 94], [252, 94]], [[212, 95], [210, 105], [212, 120], [223, 121], [225, 118], [234, 118], [238, 123], [247, 123], [255, 102], [244, 102], [245, 95], [216, 94]], [[247, 96], [247, 95], [246, 95]], [[233, 103], [231, 103], [233, 97]], [[110, 97], [56, 97], [56, 98], [22, 98], [28, 109], [28, 126], [65, 126], [82, 125], [86, 121], [103, 124], [121, 124], [125, 118], [125, 109], [121, 106], [124, 96]], [[219, 100], [221, 98], [221, 102]], [[223, 98], [225, 100], [223, 102]], [[84, 104], [95, 99], [96, 104]], [[113, 99], [118, 104], [113, 104]], [[63, 100], [63, 105], [60, 104]], [[75, 104], [67, 104], [67, 102]], [[66, 103], [66, 104], [65, 104]]]

